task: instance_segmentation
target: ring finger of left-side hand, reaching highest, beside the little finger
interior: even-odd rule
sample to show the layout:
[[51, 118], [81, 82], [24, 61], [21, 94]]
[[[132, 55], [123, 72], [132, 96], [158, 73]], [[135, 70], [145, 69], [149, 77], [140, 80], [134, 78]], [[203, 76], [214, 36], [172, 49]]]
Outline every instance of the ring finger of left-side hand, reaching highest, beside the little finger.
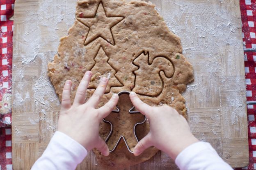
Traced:
[[92, 76], [92, 72], [87, 71], [84, 77], [82, 78], [75, 94], [75, 99], [74, 99], [75, 105], [82, 105], [85, 103], [86, 90], [91, 81], [91, 76]]

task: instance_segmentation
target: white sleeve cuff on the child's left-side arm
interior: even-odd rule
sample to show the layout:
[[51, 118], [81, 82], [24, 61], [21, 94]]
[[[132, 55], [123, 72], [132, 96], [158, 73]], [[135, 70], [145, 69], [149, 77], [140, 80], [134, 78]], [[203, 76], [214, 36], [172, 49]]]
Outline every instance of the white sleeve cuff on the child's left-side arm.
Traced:
[[86, 155], [80, 143], [57, 131], [31, 170], [74, 170]]

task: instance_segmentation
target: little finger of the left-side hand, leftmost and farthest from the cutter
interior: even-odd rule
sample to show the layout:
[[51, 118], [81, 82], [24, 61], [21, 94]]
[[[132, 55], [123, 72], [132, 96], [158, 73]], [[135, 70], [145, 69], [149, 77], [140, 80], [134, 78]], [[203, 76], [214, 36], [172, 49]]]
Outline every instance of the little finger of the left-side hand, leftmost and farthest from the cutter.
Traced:
[[62, 110], [69, 109], [71, 107], [70, 101], [70, 91], [71, 91], [72, 81], [67, 80], [63, 92], [62, 92]]

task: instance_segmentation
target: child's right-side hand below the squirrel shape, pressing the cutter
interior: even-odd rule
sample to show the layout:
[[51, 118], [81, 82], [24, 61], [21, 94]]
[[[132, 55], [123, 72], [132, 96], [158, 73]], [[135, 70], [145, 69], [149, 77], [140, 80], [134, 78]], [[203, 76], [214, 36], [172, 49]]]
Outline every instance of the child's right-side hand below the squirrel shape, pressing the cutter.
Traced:
[[143, 103], [135, 92], [130, 93], [130, 99], [150, 123], [149, 134], [135, 146], [135, 156], [141, 154], [146, 148], [155, 146], [175, 160], [187, 146], [198, 142], [190, 132], [186, 119], [172, 107], [167, 105], [151, 107]]

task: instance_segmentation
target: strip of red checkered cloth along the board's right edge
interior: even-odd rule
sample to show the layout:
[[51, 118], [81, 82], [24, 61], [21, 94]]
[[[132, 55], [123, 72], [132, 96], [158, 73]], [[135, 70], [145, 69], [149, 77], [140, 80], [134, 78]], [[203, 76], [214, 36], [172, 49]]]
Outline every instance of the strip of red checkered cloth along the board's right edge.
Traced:
[[[242, 36], [245, 48], [256, 48], [256, 0], [240, 0]], [[256, 101], [256, 52], [245, 52], [247, 101]], [[256, 169], [256, 105], [248, 105], [249, 165]]]

